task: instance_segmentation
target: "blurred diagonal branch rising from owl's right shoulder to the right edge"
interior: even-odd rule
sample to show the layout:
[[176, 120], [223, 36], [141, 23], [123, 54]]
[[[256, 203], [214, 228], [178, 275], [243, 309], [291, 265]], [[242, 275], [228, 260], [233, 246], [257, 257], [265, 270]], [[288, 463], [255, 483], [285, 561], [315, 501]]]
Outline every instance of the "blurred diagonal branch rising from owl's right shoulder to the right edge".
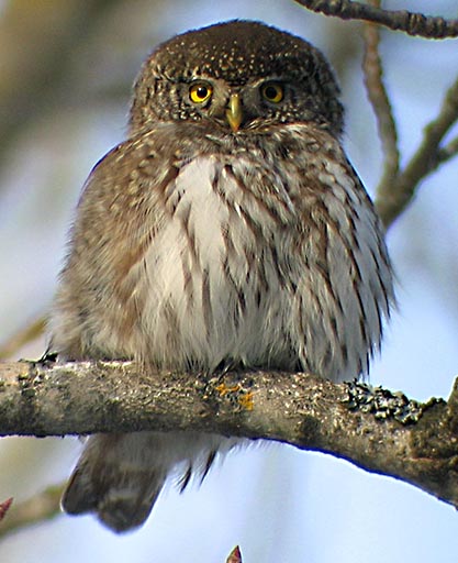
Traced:
[[[422, 143], [411, 161], [391, 186], [386, 185], [378, 192], [376, 207], [387, 228], [415, 196], [420, 181], [457, 154], [456, 140], [453, 141], [451, 151], [450, 144], [443, 150], [439, 147], [440, 141], [457, 120], [458, 78], [447, 90], [437, 118], [425, 126]], [[446, 157], [443, 151], [447, 151]]]

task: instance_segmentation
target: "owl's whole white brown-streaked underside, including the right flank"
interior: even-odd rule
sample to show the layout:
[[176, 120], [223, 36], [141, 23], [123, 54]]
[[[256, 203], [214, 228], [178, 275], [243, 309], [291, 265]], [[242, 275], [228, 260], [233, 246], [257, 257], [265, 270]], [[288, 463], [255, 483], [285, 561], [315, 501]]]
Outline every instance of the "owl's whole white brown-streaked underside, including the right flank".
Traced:
[[132, 269], [139, 355], [169, 368], [366, 372], [390, 271], [361, 186], [343, 164], [252, 156], [196, 157], [160, 191]]

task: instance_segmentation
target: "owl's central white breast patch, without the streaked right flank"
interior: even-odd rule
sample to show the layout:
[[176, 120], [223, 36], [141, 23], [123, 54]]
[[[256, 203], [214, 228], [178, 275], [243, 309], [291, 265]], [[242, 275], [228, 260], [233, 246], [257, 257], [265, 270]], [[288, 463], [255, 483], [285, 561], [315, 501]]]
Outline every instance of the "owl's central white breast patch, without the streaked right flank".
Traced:
[[[280, 211], [269, 210], [280, 198]], [[297, 364], [280, 335], [291, 318], [284, 257], [297, 223], [272, 174], [217, 156], [185, 164], [166, 188], [163, 227], [145, 257], [153, 361], [209, 369]]]

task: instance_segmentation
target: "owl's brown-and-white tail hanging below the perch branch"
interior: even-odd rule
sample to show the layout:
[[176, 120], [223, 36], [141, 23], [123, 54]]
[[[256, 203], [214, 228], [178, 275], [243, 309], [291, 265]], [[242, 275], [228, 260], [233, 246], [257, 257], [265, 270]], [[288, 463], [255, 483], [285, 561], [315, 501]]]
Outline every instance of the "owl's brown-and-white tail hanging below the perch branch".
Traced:
[[96, 512], [115, 532], [142, 526], [164, 483], [176, 474], [183, 490], [206, 475], [216, 453], [238, 440], [194, 432], [97, 434], [82, 452], [62, 498], [70, 515]]

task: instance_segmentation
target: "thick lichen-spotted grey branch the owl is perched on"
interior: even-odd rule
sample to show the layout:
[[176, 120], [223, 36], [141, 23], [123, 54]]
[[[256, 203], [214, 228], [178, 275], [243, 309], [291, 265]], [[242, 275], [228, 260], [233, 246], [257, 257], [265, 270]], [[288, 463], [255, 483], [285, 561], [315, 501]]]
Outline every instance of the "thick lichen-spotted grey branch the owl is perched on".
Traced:
[[458, 383], [425, 405], [305, 374], [203, 377], [133, 362], [0, 364], [0, 434], [200, 430], [332, 453], [458, 507]]

